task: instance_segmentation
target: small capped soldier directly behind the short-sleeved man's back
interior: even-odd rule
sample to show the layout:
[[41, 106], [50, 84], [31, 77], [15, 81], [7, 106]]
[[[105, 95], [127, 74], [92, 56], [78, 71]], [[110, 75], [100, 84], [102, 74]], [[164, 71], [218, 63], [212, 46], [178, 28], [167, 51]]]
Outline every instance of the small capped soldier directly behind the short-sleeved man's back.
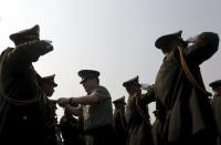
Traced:
[[125, 96], [113, 101], [116, 145], [126, 145]]

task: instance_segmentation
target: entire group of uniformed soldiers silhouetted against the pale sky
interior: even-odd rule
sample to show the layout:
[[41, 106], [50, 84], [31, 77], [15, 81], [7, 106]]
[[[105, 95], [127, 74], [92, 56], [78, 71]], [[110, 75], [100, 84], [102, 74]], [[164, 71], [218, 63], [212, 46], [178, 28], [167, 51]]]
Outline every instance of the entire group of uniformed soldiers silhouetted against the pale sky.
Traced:
[[[78, 72], [85, 95], [50, 100], [57, 86], [55, 75], [42, 77], [32, 62], [53, 45], [40, 40], [39, 32], [35, 25], [11, 34], [15, 48], [7, 48], [0, 55], [0, 144], [221, 144], [221, 81], [210, 84], [214, 92], [210, 100], [199, 66], [218, 51], [217, 33], [202, 32], [183, 40], [178, 31], [158, 38], [155, 45], [165, 58], [155, 83], [143, 94], [138, 76], [124, 82], [125, 103], [125, 97], [112, 102], [95, 70]], [[152, 125], [150, 102], [156, 102]], [[64, 108], [60, 123], [56, 103]]]

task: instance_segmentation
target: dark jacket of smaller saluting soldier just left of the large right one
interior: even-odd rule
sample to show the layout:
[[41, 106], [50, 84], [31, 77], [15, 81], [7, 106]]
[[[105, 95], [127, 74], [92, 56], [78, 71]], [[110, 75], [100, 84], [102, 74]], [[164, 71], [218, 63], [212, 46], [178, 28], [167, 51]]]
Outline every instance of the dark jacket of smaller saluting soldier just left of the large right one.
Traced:
[[154, 144], [147, 106], [154, 100], [154, 94], [150, 94], [149, 92], [141, 96], [134, 96], [131, 100], [128, 100], [125, 114], [127, 118], [126, 145]]

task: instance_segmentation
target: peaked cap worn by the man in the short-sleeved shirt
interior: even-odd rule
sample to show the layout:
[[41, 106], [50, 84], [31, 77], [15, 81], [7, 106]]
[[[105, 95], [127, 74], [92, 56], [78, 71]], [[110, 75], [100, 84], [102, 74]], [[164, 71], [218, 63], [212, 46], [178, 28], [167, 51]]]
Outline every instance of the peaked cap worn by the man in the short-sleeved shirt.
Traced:
[[99, 72], [95, 70], [81, 70], [78, 71], [80, 77], [82, 77], [81, 84], [86, 81], [87, 79], [98, 77]]

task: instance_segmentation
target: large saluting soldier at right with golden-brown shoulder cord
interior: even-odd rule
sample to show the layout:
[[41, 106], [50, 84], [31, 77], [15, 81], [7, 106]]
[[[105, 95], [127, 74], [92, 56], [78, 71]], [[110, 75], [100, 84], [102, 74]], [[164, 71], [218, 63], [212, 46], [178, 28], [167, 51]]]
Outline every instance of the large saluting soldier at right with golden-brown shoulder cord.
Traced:
[[199, 65], [217, 52], [219, 37], [203, 32], [183, 41], [181, 33], [155, 42], [165, 54], [154, 87], [164, 133], [161, 143], [213, 145], [217, 132], [210, 93], [204, 90]]

